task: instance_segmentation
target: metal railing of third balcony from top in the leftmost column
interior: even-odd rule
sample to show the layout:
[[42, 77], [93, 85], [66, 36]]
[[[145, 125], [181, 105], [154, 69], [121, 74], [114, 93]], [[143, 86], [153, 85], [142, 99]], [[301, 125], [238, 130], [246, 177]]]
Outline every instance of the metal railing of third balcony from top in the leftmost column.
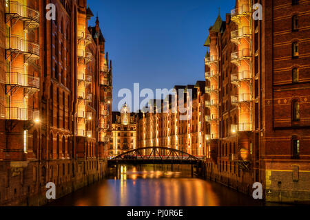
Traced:
[[17, 72], [6, 73], [6, 85], [19, 85], [21, 87], [40, 88], [40, 78]]

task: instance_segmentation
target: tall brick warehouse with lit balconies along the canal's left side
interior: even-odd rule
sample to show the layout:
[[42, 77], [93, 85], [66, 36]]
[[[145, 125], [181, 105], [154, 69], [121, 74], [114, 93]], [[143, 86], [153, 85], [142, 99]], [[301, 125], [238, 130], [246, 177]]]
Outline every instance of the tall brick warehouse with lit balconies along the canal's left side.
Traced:
[[85, 0], [1, 0], [0, 17], [0, 204], [41, 205], [50, 181], [61, 197], [105, 174], [112, 66]]

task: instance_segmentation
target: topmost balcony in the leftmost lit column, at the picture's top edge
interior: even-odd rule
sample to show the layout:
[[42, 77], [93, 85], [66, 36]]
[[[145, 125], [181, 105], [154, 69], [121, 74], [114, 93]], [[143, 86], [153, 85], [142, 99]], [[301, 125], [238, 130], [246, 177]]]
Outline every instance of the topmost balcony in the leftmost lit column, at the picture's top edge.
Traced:
[[[24, 27], [29, 29], [39, 28], [39, 11], [34, 10], [18, 1], [6, 1], [6, 23], [12, 20], [24, 22]], [[15, 22], [12, 22], [13, 25]]]

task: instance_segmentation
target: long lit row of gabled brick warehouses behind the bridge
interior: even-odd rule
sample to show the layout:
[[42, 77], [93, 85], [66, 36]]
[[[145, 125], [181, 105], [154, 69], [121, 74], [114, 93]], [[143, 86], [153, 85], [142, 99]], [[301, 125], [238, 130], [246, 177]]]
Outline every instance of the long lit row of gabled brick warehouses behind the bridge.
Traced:
[[[205, 81], [197, 81], [196, 85], [176, 85], [174, 89], [175, 100], [182, 95], [184, 107], [179, 106], [179, 102], [174, 102], [172, 95], [165, 97], [165, 100], [150, 100], [147, 106], [149, 112], [139, 113], [138, 148], [165, 146], [203, 157], [206, 153], [204, 137], [207, 132]], [[187, 99], [189, 89], [192, 94], [191, 102]], [[180, 108], [187, 109], [188, 114], [178, 111]], [[182, 116], [185, 120], [181, 120]]]

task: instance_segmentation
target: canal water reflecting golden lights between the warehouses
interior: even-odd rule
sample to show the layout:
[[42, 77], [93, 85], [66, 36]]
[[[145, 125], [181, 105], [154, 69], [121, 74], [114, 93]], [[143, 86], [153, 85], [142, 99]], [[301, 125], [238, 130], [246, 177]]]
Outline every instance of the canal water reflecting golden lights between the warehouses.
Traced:
[[48, 206], [268, 206], [213, 181], [193, 178], [191, 166], [121, 166], [116, 175]]

